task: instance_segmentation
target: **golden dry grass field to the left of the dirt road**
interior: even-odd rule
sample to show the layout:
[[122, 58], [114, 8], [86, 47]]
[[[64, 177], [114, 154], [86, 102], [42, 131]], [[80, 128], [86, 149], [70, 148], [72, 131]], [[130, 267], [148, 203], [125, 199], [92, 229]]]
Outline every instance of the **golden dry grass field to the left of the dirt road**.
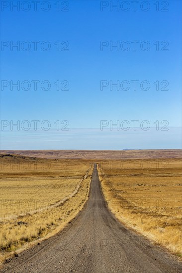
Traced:
[[1, 261], [76, 216], [88, 199], [92, 167], [78, 159], [0, 156]]

